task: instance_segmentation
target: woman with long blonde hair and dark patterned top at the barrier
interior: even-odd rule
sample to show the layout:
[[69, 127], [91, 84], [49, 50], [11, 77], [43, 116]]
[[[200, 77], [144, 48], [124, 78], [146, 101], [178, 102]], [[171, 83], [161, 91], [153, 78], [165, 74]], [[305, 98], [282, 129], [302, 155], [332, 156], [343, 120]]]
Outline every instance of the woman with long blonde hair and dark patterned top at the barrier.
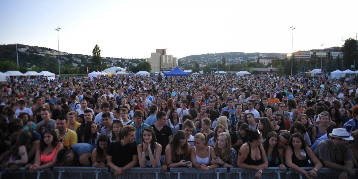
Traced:
[[231, 147], [231, 137], [227, 132], [218, 135], [215, 142], [215, 153], [217, 158], [211, 160], [211, 164], [218, 164], [219, 167], [237, 167], [237, 154], [235, 149]]

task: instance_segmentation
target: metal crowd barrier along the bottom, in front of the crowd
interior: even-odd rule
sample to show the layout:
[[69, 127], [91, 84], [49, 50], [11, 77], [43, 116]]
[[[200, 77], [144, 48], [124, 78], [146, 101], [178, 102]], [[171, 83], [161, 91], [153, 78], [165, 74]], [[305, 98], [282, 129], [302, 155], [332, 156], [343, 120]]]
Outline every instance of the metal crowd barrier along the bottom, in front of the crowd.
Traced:
[[[312, 168], [302, 168], [311, 170]], [[358, 169], [355, 169], [358, 171]], [[170, 168], [165, 173], [160, 168], [132, 168], [120, 176], [114, 176], [114, 170], [94, 167], [54, 167], [38, 172], [30, 172], [24, 168], [10, 171], [5, 168], [0, 172], [0, 179], [251, 179], [257, 170], [241, 168], [216, 168], [203, 172], [201, 169]], [[340, 172], [323, 168], [317, 173], [318, 179], [335, 179]], [[293, 170], [280, 170], [269, 167], [263, 171], [262, 179], [305, 179], [306, 177]], [[357, 176], [354, 178], [358, 178]]]

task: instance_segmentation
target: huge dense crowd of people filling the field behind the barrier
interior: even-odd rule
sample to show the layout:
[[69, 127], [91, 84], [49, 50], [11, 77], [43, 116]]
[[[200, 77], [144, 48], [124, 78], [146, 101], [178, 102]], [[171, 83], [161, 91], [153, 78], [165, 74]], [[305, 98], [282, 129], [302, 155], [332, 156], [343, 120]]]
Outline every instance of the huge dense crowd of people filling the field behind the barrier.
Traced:
[[[1, 167], [323, 168], [355, 176], [354, 81], [250, 76], [10, 80], [0, 91]], [[313, 167], [306, 171], [302, 167]]]

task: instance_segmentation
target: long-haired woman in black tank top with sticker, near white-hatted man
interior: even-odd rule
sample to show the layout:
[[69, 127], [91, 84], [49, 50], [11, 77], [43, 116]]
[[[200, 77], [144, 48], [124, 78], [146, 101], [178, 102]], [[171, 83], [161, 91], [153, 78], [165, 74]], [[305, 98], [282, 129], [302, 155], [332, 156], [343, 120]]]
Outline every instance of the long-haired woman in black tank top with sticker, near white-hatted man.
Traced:
[[[323, 165], [318, 160], [313, 151], [306, 146], [305, 140], [302, 134], [292, 134], [289, 146], [285, 151], [286, 164], [289, 168], [296, 170], [307, 178], [313, 178], [317, 175], [316, 170], [320, 170]], [[306, 171], [301, 167], [310, 167], [311, 163], [314, 163], [314, 169]]]

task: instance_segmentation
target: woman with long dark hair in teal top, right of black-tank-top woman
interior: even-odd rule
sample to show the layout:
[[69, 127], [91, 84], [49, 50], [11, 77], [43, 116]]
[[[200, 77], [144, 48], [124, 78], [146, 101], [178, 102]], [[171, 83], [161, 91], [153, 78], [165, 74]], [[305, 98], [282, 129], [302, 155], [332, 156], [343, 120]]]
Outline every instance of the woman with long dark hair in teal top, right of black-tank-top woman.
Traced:
[[[275, 116], [276, 117], [276, 116]], [[265, 142], [263, 142], [263, 148], [265, 149], [267, 162], [269, 167], [280, 167], [280, 170], [285, 169], [285, 156], [284, 150], [277, 147], [277, 141], [279, 135], [276, 132], [270, 132], [267, 134]]]

